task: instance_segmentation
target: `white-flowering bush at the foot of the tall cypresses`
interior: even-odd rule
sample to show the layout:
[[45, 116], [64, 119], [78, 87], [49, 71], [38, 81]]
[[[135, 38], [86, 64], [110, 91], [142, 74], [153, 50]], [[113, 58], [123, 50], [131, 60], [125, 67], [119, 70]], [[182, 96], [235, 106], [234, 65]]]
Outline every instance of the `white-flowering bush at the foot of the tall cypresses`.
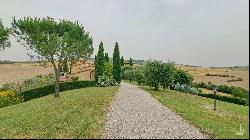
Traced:
[[107, 87], [107, 86], [115, 86], [116, 81], [113, 77], [108, 77], [106, 75], [99, 76], [98, 81], [96, 83], [98, 87]]

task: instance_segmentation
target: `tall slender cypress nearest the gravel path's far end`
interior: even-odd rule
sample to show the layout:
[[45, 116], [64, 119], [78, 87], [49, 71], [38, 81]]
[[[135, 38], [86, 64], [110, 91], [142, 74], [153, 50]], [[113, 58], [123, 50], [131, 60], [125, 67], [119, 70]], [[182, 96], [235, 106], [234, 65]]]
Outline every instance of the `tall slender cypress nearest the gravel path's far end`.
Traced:
[[113, 77], [119, 84], [121, 83], [121, 60], [118, 43], [115, 43], [115, 49], [113, 53]]

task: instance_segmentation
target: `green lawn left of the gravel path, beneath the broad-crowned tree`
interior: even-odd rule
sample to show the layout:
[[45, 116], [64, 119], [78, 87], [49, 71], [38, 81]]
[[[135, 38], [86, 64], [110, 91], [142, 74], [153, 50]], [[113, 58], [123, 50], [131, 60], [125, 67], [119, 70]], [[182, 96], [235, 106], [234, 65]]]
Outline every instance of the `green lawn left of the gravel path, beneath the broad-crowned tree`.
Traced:
[[82, 88], [0, 108], [0, 138], [99, 138], [117, 89]]

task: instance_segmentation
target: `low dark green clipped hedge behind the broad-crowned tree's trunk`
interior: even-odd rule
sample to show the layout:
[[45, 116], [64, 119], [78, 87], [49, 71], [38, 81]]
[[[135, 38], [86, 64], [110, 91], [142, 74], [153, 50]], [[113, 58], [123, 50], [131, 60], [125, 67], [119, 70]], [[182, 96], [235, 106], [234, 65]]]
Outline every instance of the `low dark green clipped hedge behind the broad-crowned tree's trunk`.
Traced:
[[[93, 87], [96, 85], [95, 81], [76, 81], [76, 82], [65, 82], [60, 83], [60, 91], [84, 88], [84, 87]], [[31, 99], [43, 97], [55, 92], [55, 85], [47, 85], [40, 88], [31, 89], [21, 93], [24, 101]]]

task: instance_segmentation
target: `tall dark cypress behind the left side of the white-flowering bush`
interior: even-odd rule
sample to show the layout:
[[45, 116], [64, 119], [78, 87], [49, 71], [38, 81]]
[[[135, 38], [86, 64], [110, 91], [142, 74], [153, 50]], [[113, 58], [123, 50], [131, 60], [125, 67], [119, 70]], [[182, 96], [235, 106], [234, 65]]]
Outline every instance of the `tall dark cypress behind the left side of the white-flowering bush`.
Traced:
[[98, 80], [98, 77], [102, 76], [104, 73], [104, 63], [105, 63], [104, 48], [103, 48], [103, 43], [101, 42], [99, 45], [97, 56], [95, 58], [95, 80], [96, 81]]

